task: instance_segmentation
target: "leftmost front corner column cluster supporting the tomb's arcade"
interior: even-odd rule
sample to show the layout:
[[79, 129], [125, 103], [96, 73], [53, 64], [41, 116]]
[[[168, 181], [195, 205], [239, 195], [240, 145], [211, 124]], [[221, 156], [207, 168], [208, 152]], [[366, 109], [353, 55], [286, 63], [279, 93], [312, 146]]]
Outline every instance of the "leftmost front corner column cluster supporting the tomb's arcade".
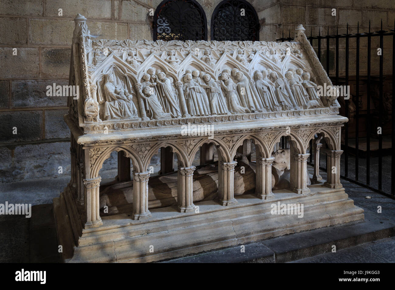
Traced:
[[100, 176], [96, 178], [84, 179], [85, 196], [86, 196], [86, 210], [87, 210], [87, 223], [86, 226], [102, 224], [99, 212], [99, 189]]

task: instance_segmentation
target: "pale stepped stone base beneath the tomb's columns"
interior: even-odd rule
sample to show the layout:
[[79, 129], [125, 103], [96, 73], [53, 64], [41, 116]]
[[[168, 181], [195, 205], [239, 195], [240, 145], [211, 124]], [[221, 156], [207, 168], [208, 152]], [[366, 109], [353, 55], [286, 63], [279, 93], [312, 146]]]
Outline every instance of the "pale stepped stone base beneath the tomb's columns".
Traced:
[[[134, 221], [131, 213], [103, 217], [103, 225], [83, 229], [73, 247], [64, 251], [64, 262], [154, 262], [188, 254], [231, 247], [285, 234], [363, 221], [361, 208], [344, 189], [311, 185], [310, 193], [274, 191], [273, 199], [254, 195], [236, 196], [237, 204], [221, 206], [218, 201], [196, 202], [198, 212], [179, 213], [177, 207], [151, 210], [152, 218]], [[59, 204], [63, 198], [54, 199]], [[66, 193], [67, 194], [67, 193]], [[64, 199], [67, 202], [67, 199]], [[274, 205], [303, 204], [301, 214], [280, 214]], [[67, 206], [54, 206], [57, 228], [73, 227]], [[275, 214], [272, 214], [275, 213]], [[298, 217], [300, 216], [300, 217]], [[75, 232], [75, 231], [74, 231]], [[59, 244], [66, 235], [58, 235]], [[69, 247], [74, 246], [70, 241]]]

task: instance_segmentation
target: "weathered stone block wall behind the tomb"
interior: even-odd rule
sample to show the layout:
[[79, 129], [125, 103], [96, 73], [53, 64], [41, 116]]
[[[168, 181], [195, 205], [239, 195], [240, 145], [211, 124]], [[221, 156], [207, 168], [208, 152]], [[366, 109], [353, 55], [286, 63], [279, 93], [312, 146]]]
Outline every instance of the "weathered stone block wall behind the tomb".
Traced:
[[[345, 33], [348, 22], [355, 33], [393, 28], [395, 5], [391, 0], [248, 0], [260, 19], [260, 40], [293, 36], [302, 23], [313, 35]], [[46, 86], [68, 84], [73, 18], [81, 13], [95, 36], [104, 39], [152, 39], [152, 17], [161, 0], [2, 0], [0, 2], [0, 182], [58, 176], [70, 172], [70, 131], [63, 121], [66, 97], [47, 97]], [[210, 39], [211, 15], [220, 0], [197, 0], [206, 13]], [[335, 8], [337, 16], [331, 16]], [[62, 9], [62, 15], [59, 15]], [[378, 46], [372, 43], [372, 57]], [[391, 48], [390, 37], [384, 47]], [[316, 46], [317, 43], [313, 43]], [[361, 40], [361, 48], [366, 48]], [[344, 40], [340, 41], [344, 54]], [[17, 55], [13, 55], [13, 49]], [[350, 73], [355, 72], [355, 41], [350, 41]], [[322, 41], [322, 57], [326, 43]], [[335, 69], [331, 44], [330, 68]], [[390, 64], [391, 49], [384, 51]], [[361, 54], [361, 58], [363, 54]], [[363, 68], [361, 60], [361, 69]], [[390, 65], [385, 66], [391, 69]], [[340, 62], [340, 72], [344, 63]], [[378, 61], [372, 60], [372, 72]], [[13, 134], [17, 127], [17, 134]], [[114, 154], [113, 154], [114, 155]], [[115, 156], [115, 155], [114, 155]], [[112, 159], [116, 158], [112, 156]], [[109, 160], [102, 169], [115, 169]], [[153, 161], [157, 163], [158, 161]]]

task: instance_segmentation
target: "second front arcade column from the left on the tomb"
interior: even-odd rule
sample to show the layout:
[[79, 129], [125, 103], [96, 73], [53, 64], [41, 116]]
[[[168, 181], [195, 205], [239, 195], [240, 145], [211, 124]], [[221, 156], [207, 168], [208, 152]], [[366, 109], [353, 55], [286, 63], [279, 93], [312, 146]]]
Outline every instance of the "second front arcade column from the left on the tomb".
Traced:
[[148, 210], [148, 180], [149, 172], [136, 172], [133, 170], [133, 212], [134, 220], [151, 217]]

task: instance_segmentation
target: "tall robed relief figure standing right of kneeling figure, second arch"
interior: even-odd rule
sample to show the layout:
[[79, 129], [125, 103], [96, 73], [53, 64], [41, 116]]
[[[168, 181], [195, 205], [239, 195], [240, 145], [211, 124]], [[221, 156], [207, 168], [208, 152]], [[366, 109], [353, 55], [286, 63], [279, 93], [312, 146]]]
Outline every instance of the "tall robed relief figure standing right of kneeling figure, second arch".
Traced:
[[173, 89], [171, 88], [171, 82], [169, 78], [166, 77], [165, 73], [158, 73], [156, 86], [158, 88], [158, 91], [162, 95], [165, 112], [171, 113], [171, 116], [173, 118], [180, 118], [180, 106], [175, 100]]

